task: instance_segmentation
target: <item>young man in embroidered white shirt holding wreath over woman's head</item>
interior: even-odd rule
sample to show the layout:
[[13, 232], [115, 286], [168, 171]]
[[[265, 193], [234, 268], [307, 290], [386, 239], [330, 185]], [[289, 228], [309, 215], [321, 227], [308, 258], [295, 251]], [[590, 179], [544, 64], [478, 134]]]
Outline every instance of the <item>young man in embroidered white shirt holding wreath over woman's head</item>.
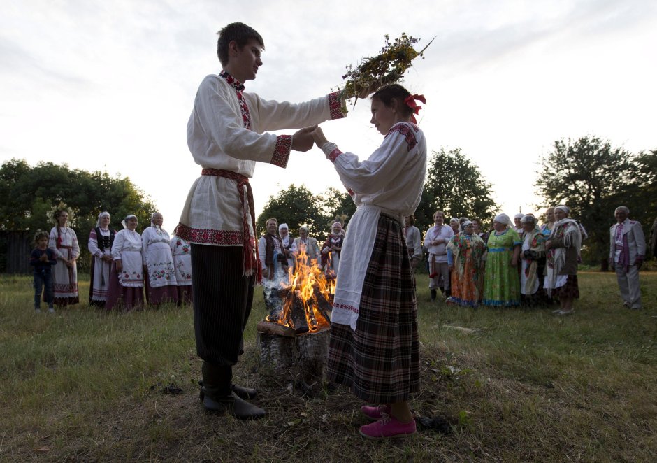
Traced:
[[[232, 384], [254, 283], [261, 280], [249, 178], [257, 161], [284, 168], [291, 150], [310, 150], [313, 124], [344, 117], [337, 92], [300, 104], [245, 92], [244, 83], [256, 78], [263, 64], [263, 49], [260, 34], [246, 24], [234, 22], [219, 31], [217, 55], [223, 69], [203, 79], [187, 123], [187, 145], [201, 165], [201, 177], [187, 195], [175, 233], [192, 245], [203, 406], [243, 420], [265, 415], [245, 400], [252, 399], [255, 390]], [[289, 82], [296, 78], [289, 76]], [[266, 133], [300, 127], [307, 128], [294, 135]]]

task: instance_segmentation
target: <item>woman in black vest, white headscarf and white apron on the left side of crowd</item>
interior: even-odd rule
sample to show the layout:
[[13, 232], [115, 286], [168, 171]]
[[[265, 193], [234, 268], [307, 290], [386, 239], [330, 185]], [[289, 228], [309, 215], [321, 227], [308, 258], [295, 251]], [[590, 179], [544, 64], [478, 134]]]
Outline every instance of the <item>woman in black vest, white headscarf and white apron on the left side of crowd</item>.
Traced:
[[105, 307], [112, 269], [112, 244], [116, 231], [110, 228], [110, 213], [101, 212], [96, 227], [89, 232], [87, 248], [92, 255], [89, 270], [89, 306]]

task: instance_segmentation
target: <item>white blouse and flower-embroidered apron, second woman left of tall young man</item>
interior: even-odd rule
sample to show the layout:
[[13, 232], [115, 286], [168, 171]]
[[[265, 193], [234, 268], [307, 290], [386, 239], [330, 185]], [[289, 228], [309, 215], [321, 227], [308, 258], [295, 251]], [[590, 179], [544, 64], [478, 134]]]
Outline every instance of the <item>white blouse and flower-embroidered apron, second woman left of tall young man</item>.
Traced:
[[144, 263], [148, 267], [148, 285], [152, 288], [176, 285], [170, 241], [171, 237], [161, 227], [148, 227], [141, 232]]

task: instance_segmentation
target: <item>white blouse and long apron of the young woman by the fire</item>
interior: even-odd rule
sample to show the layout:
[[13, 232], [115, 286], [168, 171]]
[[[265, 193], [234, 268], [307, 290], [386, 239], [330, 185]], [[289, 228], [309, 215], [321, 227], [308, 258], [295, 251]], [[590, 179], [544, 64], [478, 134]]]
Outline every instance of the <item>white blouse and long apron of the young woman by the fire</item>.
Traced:
[[419, 127], [400, 122], [366, 161], [359, 162], [358, 156], [337, 148], [329, 159], [342, 184], [356, 192], [352, 199], [357, 206], [340, 252], [331, 322], [356, 329], [379, 215], [386, 213], [398, 218], [403, 229], [404, 218], [415, 212], [426, 173], [426, 140]]

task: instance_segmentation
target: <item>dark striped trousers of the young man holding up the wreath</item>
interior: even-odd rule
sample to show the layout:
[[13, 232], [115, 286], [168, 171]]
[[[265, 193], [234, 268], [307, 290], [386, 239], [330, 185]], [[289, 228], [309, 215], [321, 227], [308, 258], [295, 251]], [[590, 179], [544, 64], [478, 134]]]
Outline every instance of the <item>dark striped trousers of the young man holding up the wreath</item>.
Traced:
[[243, 276], [241, 246], [192, 244], [196, 353], [231, 366], [243, 353], [243, 332], [253, 304], [253, 276]]

